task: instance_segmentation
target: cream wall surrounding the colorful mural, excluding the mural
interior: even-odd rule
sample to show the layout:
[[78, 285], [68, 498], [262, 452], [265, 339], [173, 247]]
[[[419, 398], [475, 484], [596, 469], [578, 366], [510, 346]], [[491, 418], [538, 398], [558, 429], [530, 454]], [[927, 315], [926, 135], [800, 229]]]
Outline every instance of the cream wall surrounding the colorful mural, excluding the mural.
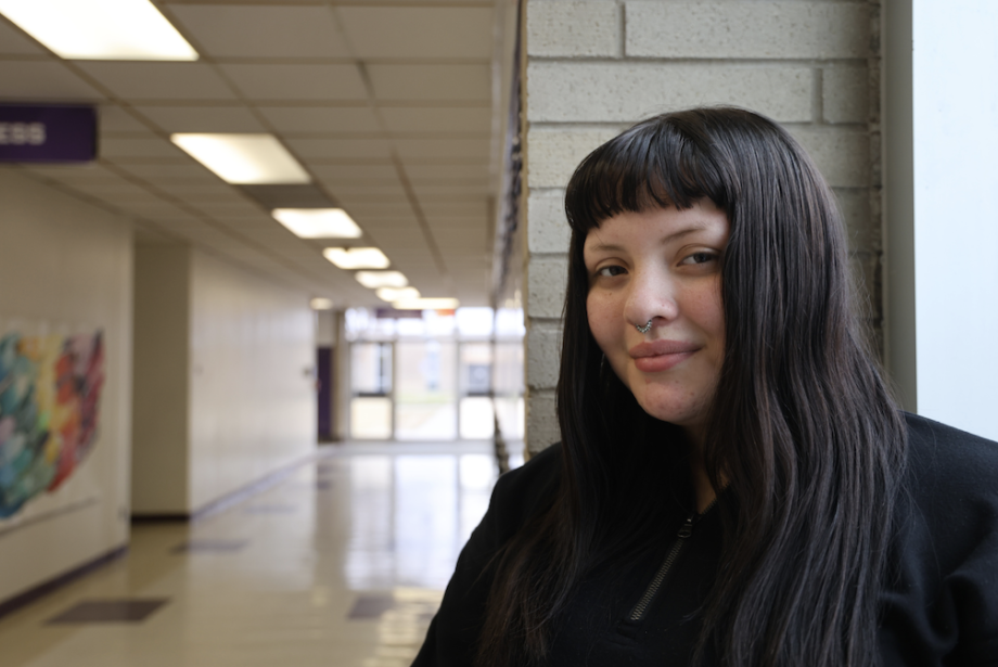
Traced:
[[[15, 169], [0, 169], [0, 324], [100, 328], [106, 346], [90, 456], [59, 491], [0, 522], [2, 601], [128, 541], [132, 247], [126, 220]], [[49, 514], [75, 500], [86, 502]]]

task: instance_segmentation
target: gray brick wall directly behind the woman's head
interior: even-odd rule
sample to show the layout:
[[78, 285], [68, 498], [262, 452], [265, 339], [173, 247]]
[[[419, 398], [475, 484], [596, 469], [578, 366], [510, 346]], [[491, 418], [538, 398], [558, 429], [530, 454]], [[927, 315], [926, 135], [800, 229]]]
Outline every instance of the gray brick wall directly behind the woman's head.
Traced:
[[839, 196], [880, 341], [879, 15], [841, 0], [527, 0], [528, 452], [560, 437], [564, 187], [589, 151], [656, 113], [735, 104], [797, 137]]

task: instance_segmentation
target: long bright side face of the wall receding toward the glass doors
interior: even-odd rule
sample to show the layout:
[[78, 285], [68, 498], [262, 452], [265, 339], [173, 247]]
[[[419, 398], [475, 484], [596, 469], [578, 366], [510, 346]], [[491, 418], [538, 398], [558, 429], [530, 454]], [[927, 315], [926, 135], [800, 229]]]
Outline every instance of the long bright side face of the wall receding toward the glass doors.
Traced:
[[190, 506], [316, 446], [308, 295], [200, 252], [191, 257]]

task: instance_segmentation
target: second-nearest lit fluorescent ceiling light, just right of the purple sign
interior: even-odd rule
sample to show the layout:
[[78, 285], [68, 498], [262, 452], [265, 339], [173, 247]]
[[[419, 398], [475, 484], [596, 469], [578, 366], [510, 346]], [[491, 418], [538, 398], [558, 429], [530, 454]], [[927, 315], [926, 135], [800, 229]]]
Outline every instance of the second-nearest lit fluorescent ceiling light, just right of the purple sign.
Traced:
[[273, 134], [171, 134], [170, 141], [227, 183], [308, 183], [311, 178]]

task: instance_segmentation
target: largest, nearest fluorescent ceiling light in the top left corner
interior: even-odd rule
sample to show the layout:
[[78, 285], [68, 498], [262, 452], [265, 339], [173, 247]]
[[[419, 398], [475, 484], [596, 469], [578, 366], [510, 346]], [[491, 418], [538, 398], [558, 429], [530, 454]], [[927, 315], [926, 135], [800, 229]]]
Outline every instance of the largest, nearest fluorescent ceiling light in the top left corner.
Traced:
[[65, 59], [197, 60], [149, 0], [0, 0], [0, 13]]

